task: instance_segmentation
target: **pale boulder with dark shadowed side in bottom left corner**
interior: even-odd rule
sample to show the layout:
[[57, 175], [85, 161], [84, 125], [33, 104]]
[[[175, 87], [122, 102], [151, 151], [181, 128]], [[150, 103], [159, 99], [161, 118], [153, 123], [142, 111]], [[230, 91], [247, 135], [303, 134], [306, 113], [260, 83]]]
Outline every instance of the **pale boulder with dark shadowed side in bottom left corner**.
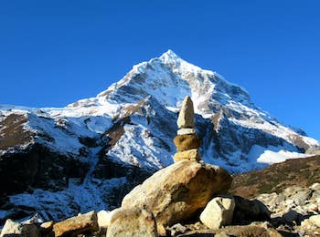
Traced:
[[14, 222], [11, 219], [6, 220], [5, 226], [0, 233], [0, 237], [5, 236], [39, 236], [37, 226], [35, 224], [24, 224]]

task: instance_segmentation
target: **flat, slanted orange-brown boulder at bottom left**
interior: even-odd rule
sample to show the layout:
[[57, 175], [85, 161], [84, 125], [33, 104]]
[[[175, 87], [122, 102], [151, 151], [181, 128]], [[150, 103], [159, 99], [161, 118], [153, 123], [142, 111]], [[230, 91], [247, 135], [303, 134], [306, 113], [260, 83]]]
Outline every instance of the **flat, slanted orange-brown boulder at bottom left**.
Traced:
[[71, 217], [53, 225], [53, 232], [56, 237], [69, 235], [70, 233], [77, 235], [84, 232], [96, 232], [98, 230], [98, 218], [94, 211]]

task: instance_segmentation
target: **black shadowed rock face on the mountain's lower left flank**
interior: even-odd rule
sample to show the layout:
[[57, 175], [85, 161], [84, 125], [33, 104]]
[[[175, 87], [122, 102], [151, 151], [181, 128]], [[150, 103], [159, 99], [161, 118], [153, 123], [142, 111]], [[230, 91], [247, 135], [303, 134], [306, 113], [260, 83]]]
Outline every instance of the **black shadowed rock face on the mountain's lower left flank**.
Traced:
[[88, 165], [59, 155], [40, 144], [0, 158], [0, 193], [4, 197], [32, 188], [58, 191], [68, 186], [69, 178], [83, 179]]

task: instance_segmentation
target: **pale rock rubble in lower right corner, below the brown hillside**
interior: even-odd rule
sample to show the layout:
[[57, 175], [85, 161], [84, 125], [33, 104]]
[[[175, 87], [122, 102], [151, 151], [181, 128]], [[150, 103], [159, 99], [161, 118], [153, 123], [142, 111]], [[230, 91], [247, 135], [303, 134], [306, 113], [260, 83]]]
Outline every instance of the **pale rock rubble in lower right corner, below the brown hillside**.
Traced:
[[271, 211], [271, 223], [279, 231], [300, 236], [320, 236], [320, 183], [291, 186], [281, 193], [257, 197]]

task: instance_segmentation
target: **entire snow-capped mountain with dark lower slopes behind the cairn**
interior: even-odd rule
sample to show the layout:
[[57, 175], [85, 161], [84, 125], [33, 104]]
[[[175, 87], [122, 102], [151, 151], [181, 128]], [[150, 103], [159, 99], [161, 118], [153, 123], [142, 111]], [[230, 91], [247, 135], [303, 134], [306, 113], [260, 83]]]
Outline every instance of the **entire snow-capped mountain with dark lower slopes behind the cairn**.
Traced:
[[243, 88], [169, 50], [65, 108], [0, 106], [0, 219], [16, 209], [17, 217], [39, 211], [48, 219], [111, 209], [136, 182], [173, 162], [186, 96], [194, 101], [202, 159], [230, 172], [320, 146], [257, 108]]

